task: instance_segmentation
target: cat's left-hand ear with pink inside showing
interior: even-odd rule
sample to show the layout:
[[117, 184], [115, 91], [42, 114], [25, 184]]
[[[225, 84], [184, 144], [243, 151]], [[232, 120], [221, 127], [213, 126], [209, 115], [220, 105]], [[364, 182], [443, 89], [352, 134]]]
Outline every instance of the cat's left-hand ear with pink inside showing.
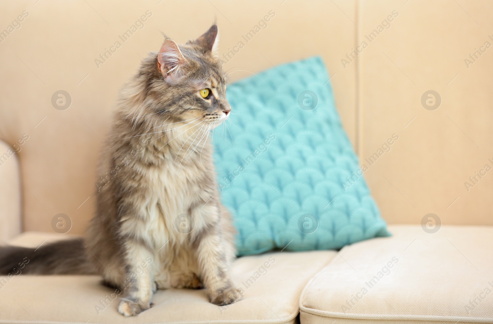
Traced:
[[174, 40], [166, 39], [157, 55], [157, 67], [168, 83], [185, 74], [186, 59]]

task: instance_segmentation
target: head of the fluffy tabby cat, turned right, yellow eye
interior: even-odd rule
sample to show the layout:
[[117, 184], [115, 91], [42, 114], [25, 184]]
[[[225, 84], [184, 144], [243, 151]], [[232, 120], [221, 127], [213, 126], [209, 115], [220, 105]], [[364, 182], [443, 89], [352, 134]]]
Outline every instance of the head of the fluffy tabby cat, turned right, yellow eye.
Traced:
[[182, 45], [166, 37], [157, 57], [153, 56], [154, 78], [147, 88], [154, 111], [211, 128], [228, 118], [226, 74], [213, 54], [217, 38], [216, 25]]

